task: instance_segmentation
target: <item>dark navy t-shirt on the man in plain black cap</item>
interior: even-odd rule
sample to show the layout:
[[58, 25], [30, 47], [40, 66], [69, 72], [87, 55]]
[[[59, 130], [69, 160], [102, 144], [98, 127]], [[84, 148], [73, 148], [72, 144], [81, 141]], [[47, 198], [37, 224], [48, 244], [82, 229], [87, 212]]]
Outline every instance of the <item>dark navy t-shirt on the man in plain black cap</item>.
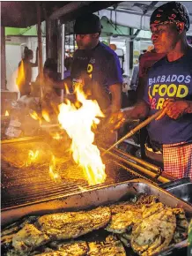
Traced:
[[82, 77], [87, 75], [93, 82], [108, 88], [122, 83], [122, 71], [118, 56], [113, 49], [99, 42], [94, 49], [77, 49], [71, 68], [73, 85], [81, 83]]

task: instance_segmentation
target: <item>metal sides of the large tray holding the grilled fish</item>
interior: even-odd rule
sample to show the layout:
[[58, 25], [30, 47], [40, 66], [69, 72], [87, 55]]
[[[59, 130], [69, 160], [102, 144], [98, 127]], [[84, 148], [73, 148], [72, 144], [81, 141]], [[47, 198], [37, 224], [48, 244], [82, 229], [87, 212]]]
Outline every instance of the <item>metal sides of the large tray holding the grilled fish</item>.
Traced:
[[[73, 195], [65, 195], [55, 200], [48, 200], [39, 204], [33, 204], [25, 207], [16, 207], [11, 210], [2, 211], [2, 225], [16, 221], [24, 215], [44, 215], [61, 211], [77, 211], [92, 207], [104, 206], [121, 200], [128, 200], [137, 193], [146, 193], [148, 195], [156, 195], [159, 201], [169, 207], [182, 207], [188, 218], [192, 217], [192, 206], [174, 195], [159, 188], [157, 185], [151, 184], [144, 179], [135, 179], [121, 184], [110, 185], [99, 189], [92, 189], [85, 192], [78, 192]], [[181, 244], [181, 245], [180, 245]], [[182, 248], [188, 245], [187, 240], [177, 245], [166, 248], [164, 252], [158, 255], [166, 255], [173, 252], [175, 248]], [[180, 251], [181, 252], [181, 251]], [[174, 254], [172, 254], [174, 255]], [[178, 254], [181, 255], [181, 254]], [[182, 252], [182, 255], [183, 254]]]

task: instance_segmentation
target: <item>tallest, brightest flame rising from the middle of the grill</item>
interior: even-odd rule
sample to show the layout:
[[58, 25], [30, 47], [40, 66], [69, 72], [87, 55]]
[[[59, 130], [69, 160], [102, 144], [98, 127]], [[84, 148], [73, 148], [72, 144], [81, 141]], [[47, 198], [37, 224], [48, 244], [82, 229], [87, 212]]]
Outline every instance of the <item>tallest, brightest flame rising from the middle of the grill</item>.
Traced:
[[92, 126], [99, 124], [97, 117], [104, 117], [98, 102], [87, 100], [84, 92], [78, 85], [75, 89], [80, 108], [70, 101], [59, 106], [58, 120], [70, 139], [70, 150], [73, 158], [83, 169], [89, 184], [101, 184], [106, 179], [105, 164], [100, 158], [100, 150], [93, 145], [94, 133]]

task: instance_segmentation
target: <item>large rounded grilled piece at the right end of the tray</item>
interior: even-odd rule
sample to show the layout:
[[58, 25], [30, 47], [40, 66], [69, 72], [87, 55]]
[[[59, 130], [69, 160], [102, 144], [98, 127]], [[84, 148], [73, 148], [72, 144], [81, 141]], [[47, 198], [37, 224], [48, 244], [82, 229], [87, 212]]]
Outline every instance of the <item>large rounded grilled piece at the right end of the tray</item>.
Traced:
[[[153, 211], [152, 211], [153, 212]], [[149, 256], [166, 248], [174, 237], [176, 218], [171, 208], [159, 209], [134, 226], [131, 246], [139, 255]]]

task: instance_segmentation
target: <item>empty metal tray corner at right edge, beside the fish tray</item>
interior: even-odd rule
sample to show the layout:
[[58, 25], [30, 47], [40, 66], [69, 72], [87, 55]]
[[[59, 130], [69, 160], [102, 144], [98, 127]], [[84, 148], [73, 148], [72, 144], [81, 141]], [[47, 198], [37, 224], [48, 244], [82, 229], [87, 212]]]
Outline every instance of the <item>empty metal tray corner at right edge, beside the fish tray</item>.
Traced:
[[192, 183], [180, 184], [167, 189], [175, 197], [187, 201], [192, 206]]

